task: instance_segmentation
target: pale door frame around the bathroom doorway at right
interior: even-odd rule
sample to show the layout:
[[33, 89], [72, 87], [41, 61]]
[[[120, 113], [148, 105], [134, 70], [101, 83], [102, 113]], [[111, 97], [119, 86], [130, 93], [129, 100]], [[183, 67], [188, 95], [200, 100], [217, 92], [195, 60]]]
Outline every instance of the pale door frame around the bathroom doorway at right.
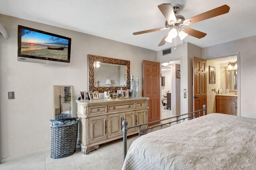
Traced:
[[212, 56], [212, 57], [207, 57], [204, 58], [206, 60], [211, 60], [211, 59], [218, 59], [218, 58], [224, 58], [224, 57], [231, 57], [231, 56], [237, 56], [237, 116], [240, 116], [240, 93], [241, 93], [241, 89], [240, 89], [240, 52], [237, 53], [230, 53], [230, 54], [224, 54], [224, 55], [217, 55], [217, 56]]

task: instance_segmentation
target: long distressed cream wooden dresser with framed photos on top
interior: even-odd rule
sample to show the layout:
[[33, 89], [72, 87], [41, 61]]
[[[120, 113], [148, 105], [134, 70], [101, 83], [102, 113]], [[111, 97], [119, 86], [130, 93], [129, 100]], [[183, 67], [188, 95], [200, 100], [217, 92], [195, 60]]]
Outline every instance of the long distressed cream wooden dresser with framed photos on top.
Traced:
[[[79, 117], [79, 142], [83, 154], [99, 144], [122, 138], [122, 120], [128, 127], [148, 122], [148, 97], [131, 97], [117, 100], [76, 101]], [[147, 128], [146, 126], [142, 128]], [[138, 133], [129, 129], [127, 135]]]

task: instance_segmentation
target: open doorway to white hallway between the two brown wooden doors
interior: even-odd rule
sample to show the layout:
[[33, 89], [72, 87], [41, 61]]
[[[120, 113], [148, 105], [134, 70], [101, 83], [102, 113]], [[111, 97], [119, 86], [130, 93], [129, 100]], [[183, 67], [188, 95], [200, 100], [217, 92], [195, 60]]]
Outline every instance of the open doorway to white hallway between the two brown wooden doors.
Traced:
[[180, 115], [180, 64], [180, 59], [161, 63], [161, 119]]

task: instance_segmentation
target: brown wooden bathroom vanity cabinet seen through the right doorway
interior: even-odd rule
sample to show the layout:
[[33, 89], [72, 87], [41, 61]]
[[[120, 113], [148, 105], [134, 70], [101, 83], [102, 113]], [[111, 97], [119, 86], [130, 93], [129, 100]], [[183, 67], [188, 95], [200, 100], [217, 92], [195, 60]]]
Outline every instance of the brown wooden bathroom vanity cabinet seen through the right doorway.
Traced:
[[237, 115], [237, 96], [216, 95], [216, 113]]

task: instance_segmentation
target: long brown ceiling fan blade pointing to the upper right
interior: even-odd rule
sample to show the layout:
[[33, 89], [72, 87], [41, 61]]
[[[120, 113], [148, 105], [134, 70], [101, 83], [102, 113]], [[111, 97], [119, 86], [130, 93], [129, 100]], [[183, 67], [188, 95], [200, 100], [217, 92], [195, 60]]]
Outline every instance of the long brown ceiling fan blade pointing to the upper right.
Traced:
[[229, 12], [229, 10], [230, 10], [229, 6], [223, 5], [223, 6], [220, 6], [218, 8], [215, 8], [213, 10], [210, 10], [210, 11], [204, 12], [202, 14], [199, 14], [197, 16], [193, 16], [192, 18], [188, 18], [184, 22], [191, 21], [190, 23], [186, 24], [188, 26], [188, 25], [194, 24], [196, 22], [200, 22], [200, 21], [203, 21], [203, 20], [207, 20], [209, 18], [213, 18], [213, 17], [219, 16], [219, 15], [222, 15], [222, 14], [226, 14], [226, 13]]

